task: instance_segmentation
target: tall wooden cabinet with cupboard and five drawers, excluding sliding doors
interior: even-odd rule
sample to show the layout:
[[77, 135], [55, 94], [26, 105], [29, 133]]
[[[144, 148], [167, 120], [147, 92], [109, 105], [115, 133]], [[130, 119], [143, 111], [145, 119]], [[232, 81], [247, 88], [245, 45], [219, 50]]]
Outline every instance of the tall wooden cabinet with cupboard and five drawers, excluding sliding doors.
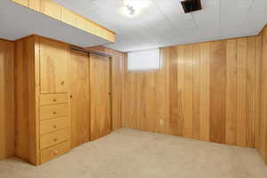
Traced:
[[70, 150], [69, 46], [28, 36], [15, 52], [15, 154], [40, 165]]

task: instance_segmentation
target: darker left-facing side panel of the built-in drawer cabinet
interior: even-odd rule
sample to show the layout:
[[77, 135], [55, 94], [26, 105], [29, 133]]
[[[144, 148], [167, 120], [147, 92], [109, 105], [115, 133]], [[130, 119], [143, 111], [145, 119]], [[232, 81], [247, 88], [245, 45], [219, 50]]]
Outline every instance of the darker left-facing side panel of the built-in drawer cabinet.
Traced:
[[[38, 121], [36, 120], [37, 38], [28, 36], [15, 42], [14, 100], [15, 100], [15, 156], [36, 165], [38, 161]], [[39, 49], [37, 49], [38, 51]], [[38, 60], [38, 58], [37, 58]]]

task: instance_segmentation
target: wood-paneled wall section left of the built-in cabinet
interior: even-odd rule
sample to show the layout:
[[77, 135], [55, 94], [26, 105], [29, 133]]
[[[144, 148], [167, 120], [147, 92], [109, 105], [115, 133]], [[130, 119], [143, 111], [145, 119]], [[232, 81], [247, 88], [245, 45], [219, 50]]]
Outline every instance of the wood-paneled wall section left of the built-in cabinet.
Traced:
[[14, 155], [14, 44], [0, 39], [0, 159]]

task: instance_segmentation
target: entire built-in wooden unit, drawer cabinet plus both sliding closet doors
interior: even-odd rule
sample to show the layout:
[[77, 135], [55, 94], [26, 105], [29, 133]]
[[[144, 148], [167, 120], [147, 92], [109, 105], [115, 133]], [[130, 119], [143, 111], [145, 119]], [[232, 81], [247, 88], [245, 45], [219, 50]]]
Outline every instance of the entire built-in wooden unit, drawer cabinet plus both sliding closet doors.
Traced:
[[110, 58], [42, 36], [15, 42], [15, 155], [40, 165], [111, 132]]

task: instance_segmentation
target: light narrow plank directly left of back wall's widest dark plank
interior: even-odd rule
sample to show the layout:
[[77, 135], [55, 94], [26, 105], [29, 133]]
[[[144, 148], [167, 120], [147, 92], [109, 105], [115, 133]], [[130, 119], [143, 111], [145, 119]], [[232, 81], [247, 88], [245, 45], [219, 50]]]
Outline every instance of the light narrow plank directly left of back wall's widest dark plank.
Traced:
[[210, 51], [209, 43], [200, 44], [200, 109], [199, 139], [209, 141], [209, 84], [210, 84]]

